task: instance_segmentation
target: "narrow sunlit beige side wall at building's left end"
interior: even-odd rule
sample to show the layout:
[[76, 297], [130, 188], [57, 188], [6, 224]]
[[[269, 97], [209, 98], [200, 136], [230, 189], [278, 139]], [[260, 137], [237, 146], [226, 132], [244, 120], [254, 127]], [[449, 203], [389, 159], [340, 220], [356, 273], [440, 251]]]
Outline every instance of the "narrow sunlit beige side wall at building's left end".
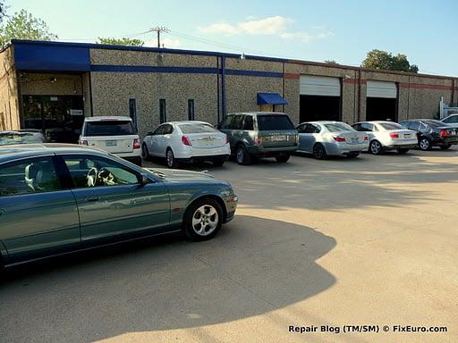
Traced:
[[19, 97], [13, 47], [0, 53], [0, 130], [20, 128]]

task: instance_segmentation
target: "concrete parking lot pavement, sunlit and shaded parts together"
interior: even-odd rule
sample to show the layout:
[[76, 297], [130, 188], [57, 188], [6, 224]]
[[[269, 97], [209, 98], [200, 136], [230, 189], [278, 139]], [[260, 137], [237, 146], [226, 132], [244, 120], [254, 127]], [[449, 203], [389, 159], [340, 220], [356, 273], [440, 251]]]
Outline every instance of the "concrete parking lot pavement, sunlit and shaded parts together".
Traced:
[[[194, 167], [240, 197], [211, 241], [154, 238], [13, 270], [0, 340], [458, 341], [456, 147], [274, 161]], [[288, 331], [347, 324], [448, 331]]]

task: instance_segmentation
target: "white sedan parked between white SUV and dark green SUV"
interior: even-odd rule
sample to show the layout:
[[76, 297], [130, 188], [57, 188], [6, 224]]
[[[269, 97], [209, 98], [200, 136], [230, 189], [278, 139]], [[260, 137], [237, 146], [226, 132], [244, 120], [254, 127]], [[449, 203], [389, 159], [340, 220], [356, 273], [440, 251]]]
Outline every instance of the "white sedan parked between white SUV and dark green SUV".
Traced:
[[231, 155], [229, 139], [205, 121], [169, 121], [148, 132], [141, 146], [143, 159], [165, 157], [169, 168], [183, 162], [211, 161], [221, 166]]

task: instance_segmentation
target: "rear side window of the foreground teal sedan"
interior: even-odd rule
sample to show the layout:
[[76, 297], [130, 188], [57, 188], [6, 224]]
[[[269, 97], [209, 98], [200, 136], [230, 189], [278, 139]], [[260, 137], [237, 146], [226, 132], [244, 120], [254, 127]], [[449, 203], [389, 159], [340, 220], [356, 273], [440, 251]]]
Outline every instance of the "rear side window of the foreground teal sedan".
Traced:
[[59, 190], [51, 157], [39, 157], [0, 166], [0, 197]]

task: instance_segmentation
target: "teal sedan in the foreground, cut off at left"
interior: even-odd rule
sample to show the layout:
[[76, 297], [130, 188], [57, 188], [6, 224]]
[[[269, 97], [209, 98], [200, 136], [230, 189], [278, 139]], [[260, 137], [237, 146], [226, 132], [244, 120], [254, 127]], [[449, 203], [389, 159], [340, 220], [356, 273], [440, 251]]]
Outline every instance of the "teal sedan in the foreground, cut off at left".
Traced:
[[204, 172], [84, 146], [0, 147], [0, 266], [171, 232], [213, 238], [236, 206], [233, 188]]

